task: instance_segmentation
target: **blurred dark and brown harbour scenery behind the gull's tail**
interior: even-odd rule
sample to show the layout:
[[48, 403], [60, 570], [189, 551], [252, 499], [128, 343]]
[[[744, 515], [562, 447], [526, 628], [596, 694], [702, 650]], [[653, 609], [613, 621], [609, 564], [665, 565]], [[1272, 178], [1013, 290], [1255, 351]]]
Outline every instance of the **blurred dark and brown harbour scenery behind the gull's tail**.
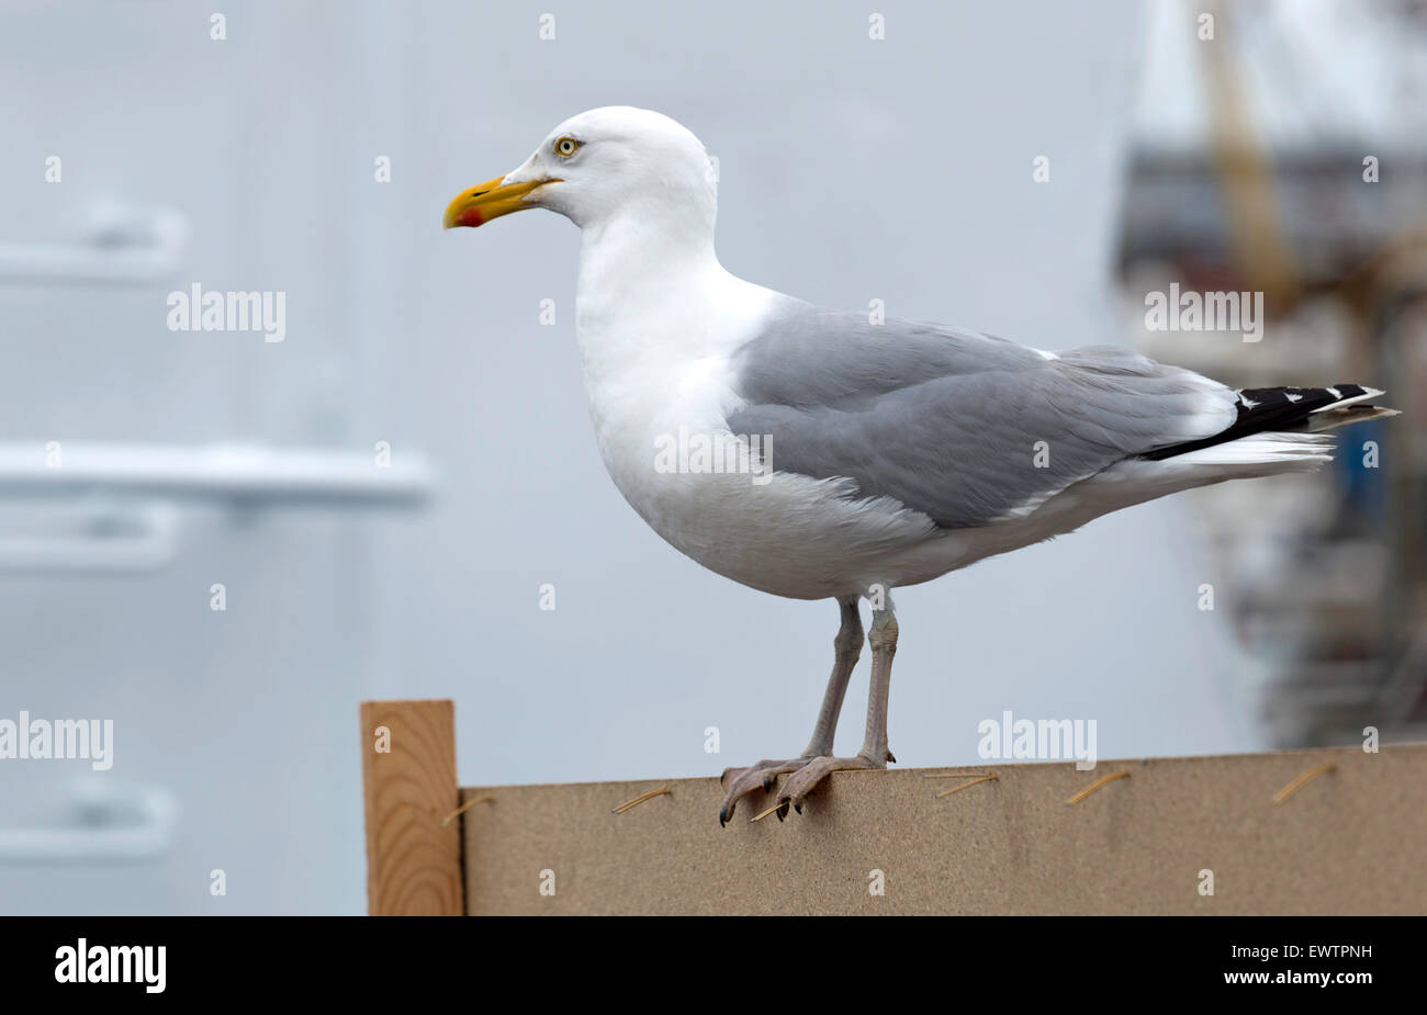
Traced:
[[[1329, 476], [1187, 496], [1273, 746], [1427, 734], [1427, 3], [1152, 9], [1116, 268], [1150, 356], [1257, 388], [1364, 376], [1404, 412]], [[1196, 19], [1202, 14], [1196, 14]], [[1146, 292], [1264, 294], [1263, 338], [1146, 328]]]

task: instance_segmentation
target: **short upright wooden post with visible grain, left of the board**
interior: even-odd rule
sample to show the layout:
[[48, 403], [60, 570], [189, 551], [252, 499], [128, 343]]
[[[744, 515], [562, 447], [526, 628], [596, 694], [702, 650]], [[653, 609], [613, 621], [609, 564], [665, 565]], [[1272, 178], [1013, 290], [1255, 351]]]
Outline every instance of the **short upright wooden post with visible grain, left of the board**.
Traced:
[[362, 701], [367, 804], [367, 912], [459, 917], [465, 912], [450, 700]]

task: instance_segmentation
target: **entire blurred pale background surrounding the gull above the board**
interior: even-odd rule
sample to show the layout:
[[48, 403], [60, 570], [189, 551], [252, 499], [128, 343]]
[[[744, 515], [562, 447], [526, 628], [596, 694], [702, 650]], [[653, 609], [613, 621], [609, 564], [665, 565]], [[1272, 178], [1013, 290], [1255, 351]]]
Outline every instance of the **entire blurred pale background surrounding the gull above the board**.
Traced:
[[[107, 771], [0, 760], [0, 912], [361, 912], [362, 699], [455, 699], [467, 785], [806, 741], [836, 607], [622, 502], [574, 228], [440, 228], [605, 104], [705, 141], [772, 288], [1406, 411], [899, 593], [903, 764], [1005, 710], [1100, 757], [1421, 738], [1427, 6], [548, 7], [0, 11], [0, 718], [114, 720]], [[1172, 282], [1264, 292], [1263, 339], [1149, 331]], [[171, 331], [195, 284], [285, 294], [284, 341]], [[865, 701], [866, 661], [839, 748]]]

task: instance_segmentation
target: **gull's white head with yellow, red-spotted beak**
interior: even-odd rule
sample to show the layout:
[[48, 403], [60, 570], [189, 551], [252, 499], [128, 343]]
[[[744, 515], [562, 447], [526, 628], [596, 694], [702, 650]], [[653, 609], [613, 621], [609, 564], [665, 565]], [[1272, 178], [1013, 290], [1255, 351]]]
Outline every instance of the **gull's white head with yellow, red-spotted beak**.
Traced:
[[606, 105], [559, 124], [518, 170], [457, 194], [445, 228], [548, 208], [581, 228], [622, 215], [712, 235], [718, 210], [708, 153], [662, 113]]

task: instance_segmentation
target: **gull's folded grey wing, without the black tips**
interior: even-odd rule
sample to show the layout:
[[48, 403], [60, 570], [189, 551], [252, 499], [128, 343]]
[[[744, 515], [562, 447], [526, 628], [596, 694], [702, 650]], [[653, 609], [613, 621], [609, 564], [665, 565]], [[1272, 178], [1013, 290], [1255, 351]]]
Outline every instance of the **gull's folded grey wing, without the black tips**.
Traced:
[[[739, 435], [942, 527], [1019, 517], [1133, 455], [1232, 426], [1236, 393], [1113, 346], [1055, 358], [915, 321], [792, 306], [735, 356]], [[1045, 442], [1040, 445], [1039, 442]]]

